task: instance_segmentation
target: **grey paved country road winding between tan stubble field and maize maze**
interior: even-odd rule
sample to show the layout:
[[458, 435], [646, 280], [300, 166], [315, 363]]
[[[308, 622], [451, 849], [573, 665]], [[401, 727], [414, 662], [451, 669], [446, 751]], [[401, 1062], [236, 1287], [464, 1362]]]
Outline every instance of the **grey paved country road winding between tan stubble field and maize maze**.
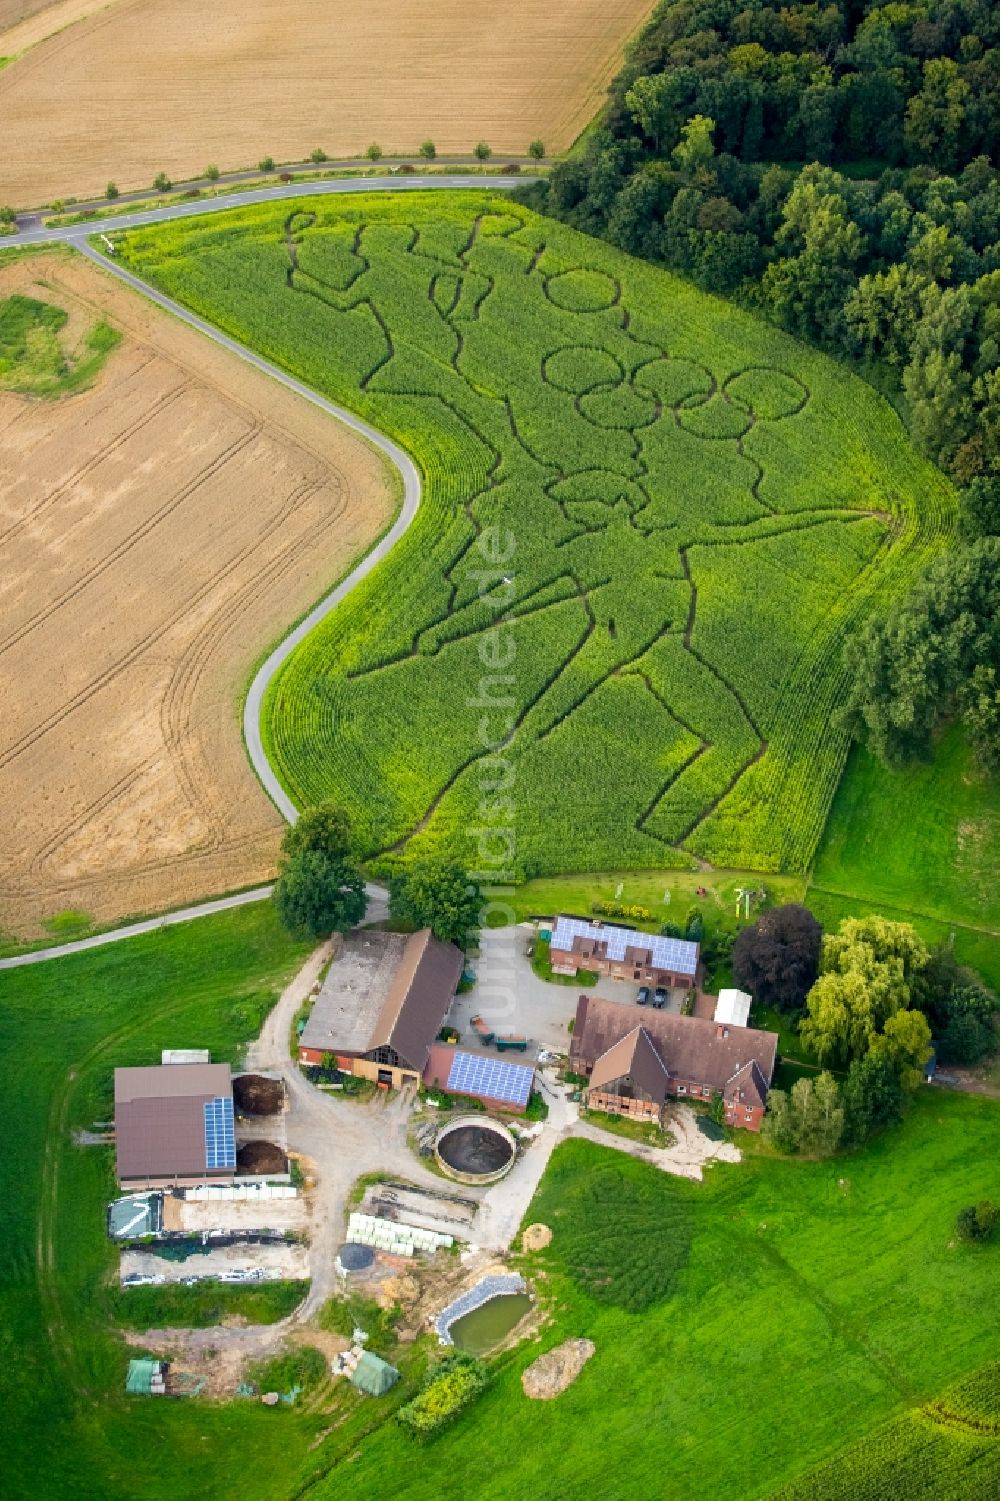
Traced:
[[[520, 177], [518, 182], [509, 180], [488, 180], [486, 191], [503, 191], [511, 189], [526, 182], [535, 182], [532, 177]], [[243, 707], [243, 735], [246, 741], [246, 750], [251, 758], [251, 764], [261, 781], [261, 785], [270, 800], [273, 802], [278, 812], [288, 823], [294, 823], [299, 812], [285, 793], [284, 787], [275, 776], [273, 767], [267, 760], [264, 750], [264, 743], [261, 737], [261, 708], [264, 696], [275, 674], [294, 651], [294, 648], [308, 636], [308, 633], [317, 626], [341, 600], [354, 588], [360, 579], [366, 578], [368, 573], [380, 563], [386, 554], [396, 545], [402, 533], [407, 530], [413, 518], [416, 516], [417, 506], [420, 504], [420, 474], [410, 458], [410, 455], [393, 443], [392, 438], [384, 437], [377, 428], [369, 426], [360, 417], [354, 416], [353, 411], [347, 411], [344, 407], [338, 407], [336, 402], [327, 401], [326, 396], [320, 396], [318, 392], [312, 390], [303, 381], [290, 375], [287, 371], [281, 369], [278, 365], [272, 365], [270, 360], [261, 359], [260, 354], [254, 354], [246, 345], [240, 344], [237, 339], [230, 338], [228, 333], [222, 333], [206, 318], [198, 317], [197, 312], [191, 312], [182, 303], [174, 302], [173, 297], [167, 297], [164, 293], [156, 291], [149, 287], [132, 272], [125, 270], [111, 255], [105, 255], [96, 251], [90, 243], [89, 237], [92, 234], [99, 236], [108, 230], [131, 230], [138, 228], [144, 224], [161, 224], [167, 219], [188, 219], [197, 218], [204, 213], [219, 213], [225, 209], [239, 209], [243, 204], [254, 203], [272, 203], [290, 198], [312, 198], [327, 194], [353, 194], [353, 192], [413, 192], [414, 189], [455, 189], [455, 188], [476, 188], [483, 191], [482, 177], [405, 177], [402, 180], [393, 177], [351, 177], [341, 182], [320, 182], [320, 183], [303, 183], [296, 186], [290, 183], [281, 188], [260, 188], [255, 192], [245, 194], [228, 194], [219, 198], [213, 198], [209, 203], [183, 203], [183, 204], [165, 204], [162, 209], [149, 209], [143, 213], [123, 213], [113, 219], [105, 219], [98, 225], [74, 225], [71, 228], [60, 230], [30, 230], [17, 236], [12, 236], [8, 242], [0, 245], [0, 264], [3, 264], [3, 249], [30, 246], [30, 245], [50, 245], [53, 242], [62, 242], [63, 245], [71, 245], [74, 249], [86, 255], [87, 260], [95, 261], [104, 270], [111, 272], [119, 281], [123, 281], [134, 291], [140, 293], [143, 297], [149, 297], [165, 312], [173, 314], [180, 318], [182, 323], [188, 323], [192, 329], [204, 333], [206, 338], [212, 339], [215, 344], [222, 345], [230, 354], [234, 354], [240, 360], [246, 360], [255, 369], [276, 380], [281, 386], [287, 386], [303, 401], [312, 402], [321, 411], [326, 411], [336, 422], [344, 423], [353, 432], [360, 434], [368, 443], [374, 444], [380, 453], [395, 465], [399, 476], [402, 477], [402, 506], [399, 507], [399, 515], [395, 522], [375, 542], [374, 548], [365, 554], [360, 563], [351, 569], [351, 572], [326, 594], [314, 609], [302, 620], [294, 630], [291, 630], [270, 653], [267, 660], [258, 669], [254, 681], [249, 686], [246, 695], [246, 704]], [[173, 923], [189, 922], [194, 917], [207, 917], [212, 913], [228, 911], [233, 907], [245, 907], [248, 902], [261, 902], [270, 896], [270, 886], [255, 887], [252, 892], [239, 892], [234, 896], [221, 896], [216, 901], [200, 902], [194, 907], [180, 908], [176, 913], [167, 913], [162, 917], [150, 917], [146, 922], [128, 923], [123, 928], [114, 928], [105, 934], [96, 934], [93, 938], [80, 938], [74, 943], [60, 944], [50, 949], [35, 949], [30, 953], [14, 955], [9, 959], [0, 959], [0, 970], [14, 970], [26, 964], [42, 964], [47, 959], [59, 959], [63, 955], [80, 953], [86, 949], [98, 949], [102, 944], [117, 943], [122, 938], [132, 938], [137, 934], [153, 932], [156, 928], [167, 928]], [[384, 917], [384, 902], [387, 893], [384, 887], [368, 886], [368, 920], [377, 922]]]

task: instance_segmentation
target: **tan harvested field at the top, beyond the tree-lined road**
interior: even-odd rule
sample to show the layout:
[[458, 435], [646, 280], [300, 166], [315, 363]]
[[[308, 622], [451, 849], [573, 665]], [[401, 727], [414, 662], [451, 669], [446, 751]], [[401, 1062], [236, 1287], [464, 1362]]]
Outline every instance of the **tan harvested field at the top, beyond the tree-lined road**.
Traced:
[[120, 0], [0, 74], [0, 203], [209, 162], [569, 146], [653, 0]]

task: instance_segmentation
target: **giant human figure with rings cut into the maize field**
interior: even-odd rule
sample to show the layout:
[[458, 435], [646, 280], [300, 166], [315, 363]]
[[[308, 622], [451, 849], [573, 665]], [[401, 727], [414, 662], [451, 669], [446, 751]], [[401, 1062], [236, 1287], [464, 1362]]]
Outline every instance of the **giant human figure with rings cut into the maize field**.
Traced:
[[[647, 832], [679, 844], [766, 747], [737, 687], [697, 653], [688, 549], [803, 525], [802, 510], [760, 498], [763, 470], [743, 440], [799, 413], [808, 392], [764, 366], [719, 380], [638, 338], [611, 276], [548, 269], [523, 230], [517, 215], [483, 215], [464, 240], [455, 225], [428, 243], [378, 222], [323, 243], [303, 216], [290, 224], [288, 285], [363, 320], [353, 345], [365, 390], [444, 404], [482, 450], [462, 498], [468, 537], [444, 566], [449, 606], [416, 624], [413, 653], [474, 636], [498, 609], [517, 620], [575, 596], [578, 644], [521, 705], [511, 738], [542, 738], [613, 674], [640, 674], [701, 744], [646, 814]], [[492, 524], [532, 545], [483, 599], [468, 554]], [[706, 672], [709, 710], [695, 686]]]

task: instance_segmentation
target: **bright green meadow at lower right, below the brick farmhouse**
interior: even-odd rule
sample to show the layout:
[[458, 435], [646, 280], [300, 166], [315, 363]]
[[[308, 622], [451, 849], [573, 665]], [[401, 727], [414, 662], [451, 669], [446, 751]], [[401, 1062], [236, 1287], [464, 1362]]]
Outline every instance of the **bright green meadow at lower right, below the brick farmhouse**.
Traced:
[[[527, 1213], [554, 1229], [532, 1258], [556, 1310], [544, 1348], [587, 1336], [596, 1355], [557, 1402], [533, 1403], [518, 1379], [530, 1343], [416, 1466], [387, 1426], [350, 1468], [351, 1501], [381, 1495], [389, 1472], [405, 1501], [563, 1501], [595, 1474], [614, 1501], [767, 1496], [995, 1357], [1000, 1246], [955, 1244], [952, 1228], [995, 1190], [998, 1126], [997, 1102], [923, 1094], [859, 1156], [749, 1159], [704, 1184], [557, 1148]], [[503, 1465], [497, 1433], [517, 1433]]]

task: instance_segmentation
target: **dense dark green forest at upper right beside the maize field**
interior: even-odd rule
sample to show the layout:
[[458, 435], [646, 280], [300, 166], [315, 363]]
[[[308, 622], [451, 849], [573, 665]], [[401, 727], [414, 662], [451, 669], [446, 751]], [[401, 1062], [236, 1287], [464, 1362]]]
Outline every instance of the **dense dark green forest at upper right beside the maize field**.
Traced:
[[[1000, 533], [998, 161], [991, 0], [665, 0], [581, 150], [526, 198], [758, 308], [890, 393], [959, 488], [967, 546], [926, 587], [947, 591], [950, 570], [971, 567], [992, 608], [997, 551], [968, 545]], [[907, 615], [916, 657], [949, 650], [938, 624], [925, 588]], [[937, 713], [964, 711], [991, 761], [1000, 632], [988, 611], [976, 633], [962, 663], [974, 702], [955, 702], [952, 671]], [[926, 750], [947, 672], [901, 672], [890, 651], [892, 632], [859, 650], [848, 714], [898, 764]]]

